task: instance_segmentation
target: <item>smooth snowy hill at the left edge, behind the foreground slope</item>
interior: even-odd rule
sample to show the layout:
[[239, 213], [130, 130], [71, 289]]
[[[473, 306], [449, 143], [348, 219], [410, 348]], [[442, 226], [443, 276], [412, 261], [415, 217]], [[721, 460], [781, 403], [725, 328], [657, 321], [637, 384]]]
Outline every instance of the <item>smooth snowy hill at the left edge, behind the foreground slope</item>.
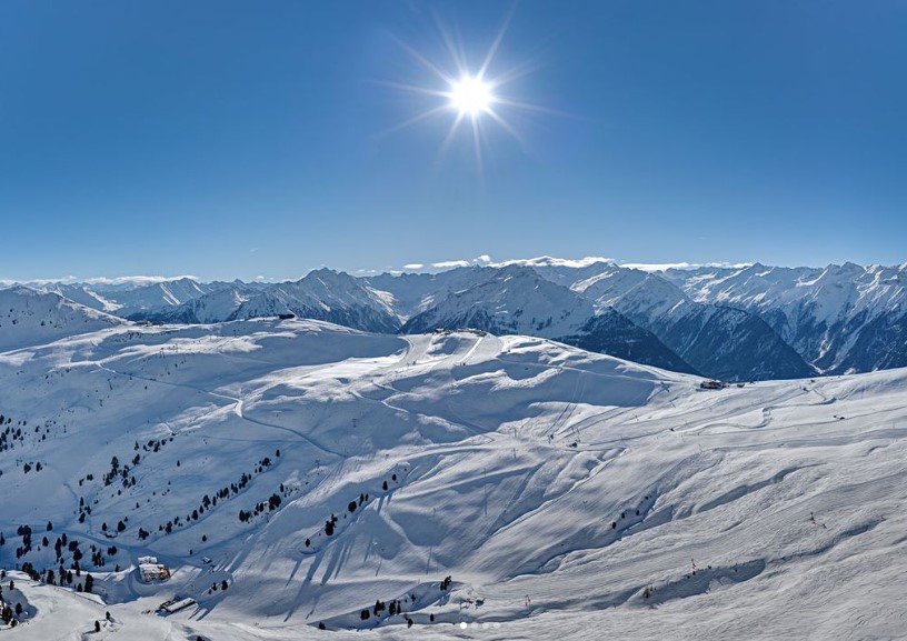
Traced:
[[0, 289], [0, 350], [44, 344], [57, 339], [126, 324], [124, 321], [26, 287]]

